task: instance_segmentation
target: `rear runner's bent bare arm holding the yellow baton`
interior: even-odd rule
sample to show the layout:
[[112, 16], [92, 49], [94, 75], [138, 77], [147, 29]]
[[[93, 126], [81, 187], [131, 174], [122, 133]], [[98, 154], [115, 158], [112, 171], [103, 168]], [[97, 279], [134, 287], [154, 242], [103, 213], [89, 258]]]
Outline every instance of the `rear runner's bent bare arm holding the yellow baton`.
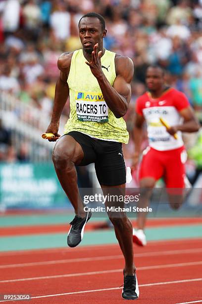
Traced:
[[171, 127], [167, 130], [171, 135], [175, 134], [177, 131], [181, 132], [197, 132], [200, 129], [199, 122], [196, 118], [196, 115], [191, 107], [187, 107], [180, 111], [180, 115], [184, 119], [184, 123], [182, 125], [177, 125]]

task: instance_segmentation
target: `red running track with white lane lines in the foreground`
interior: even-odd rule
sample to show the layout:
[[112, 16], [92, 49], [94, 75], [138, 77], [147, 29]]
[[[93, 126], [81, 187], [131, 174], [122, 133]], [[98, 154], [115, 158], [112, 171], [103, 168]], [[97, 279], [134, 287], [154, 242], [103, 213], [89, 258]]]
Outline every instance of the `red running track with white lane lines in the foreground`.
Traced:
[[[202, 239], [150, 242], [134, 252], [138, 303], [202, 302]], [[1, 252], [0, 294], [29, 294], [28, 304], [119, 304], [123, 265], [118, 245]]]

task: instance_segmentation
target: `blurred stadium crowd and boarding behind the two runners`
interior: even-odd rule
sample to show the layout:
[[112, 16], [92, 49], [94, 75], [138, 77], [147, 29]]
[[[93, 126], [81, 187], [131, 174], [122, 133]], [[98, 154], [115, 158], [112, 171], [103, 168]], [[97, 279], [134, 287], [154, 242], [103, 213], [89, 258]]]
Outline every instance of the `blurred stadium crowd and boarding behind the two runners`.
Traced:
[[[41, 138], [50, 122], [57, 58], [81, 48], [78, 21], [96, 11], [106, 21], [104, 47], [130, 57], [135, 73], [130, 108], [146, 90], [150, 64], [184, 92], [202, 122], [202, 0], [0, 0], [0, 211], [68, 208], [54, 172], [54, 144]], [[69, 115], [67, 101], [59, 133]], [[202, 131], [184, 134], [187, 174], [202, 187]], [[147, 140], [143, 143], [143, 149]], [[130, 165], [134, 146], [123, 147]], [[94, 167], [78, 168], [80, 187], [96, 187]], [[134, 176], [130, 187], [138, 186]]]

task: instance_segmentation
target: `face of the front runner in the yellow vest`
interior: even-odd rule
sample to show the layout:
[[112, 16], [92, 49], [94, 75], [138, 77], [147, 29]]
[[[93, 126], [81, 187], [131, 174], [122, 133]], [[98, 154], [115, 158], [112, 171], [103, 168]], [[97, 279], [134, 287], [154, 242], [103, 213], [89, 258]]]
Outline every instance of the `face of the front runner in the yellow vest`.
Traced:
[[86, 53], [93, 52], [94, 45], [98, 43], [99, 51], [102, 49], [102, 39], [106, 30], [102, 31], [101, 22], [98, 18], [85, 17], [79, 24], [79, 37]]

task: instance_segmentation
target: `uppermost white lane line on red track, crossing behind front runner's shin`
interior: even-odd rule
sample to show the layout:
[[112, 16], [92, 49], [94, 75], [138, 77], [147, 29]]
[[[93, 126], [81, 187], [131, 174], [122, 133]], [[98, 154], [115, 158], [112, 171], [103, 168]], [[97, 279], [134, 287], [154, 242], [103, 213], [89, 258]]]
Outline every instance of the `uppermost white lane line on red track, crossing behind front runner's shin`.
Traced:
[[[174, 255], [174, 254], [190, 254], [190, 253], [200, 253], [202, 248], [196, 249], [181, 249], [181, 250], [167, 250], [167, 251], [155, 251], [155, 252], [144, 252], [134, 254], [135, 258], [138, 257], [149, 257], [149, 256], [161, 256], [161, 255]], [[66, 263], [78, 263], [78, 262], [89, 262], [89, 261], [102, 261], [102, 260], [116, 260], [122, 259], [123, 255], [106, 255], [106, 256], [97, 256], [97, 257], [85, 257], [85, 258], [76, 258], [76, 259], [63, 259], [63, 260], [50, 260], [42, 262], [30, 262], [30, 263], [19, 263], [19, 264], [5, 264], [0, 265], [0, 269], [3, 268], [16, 268], [16, 267], [28, 267], [28, 266], [41, 266], [41, 265], [54, 265], [54, 264], [66, 264]]]

